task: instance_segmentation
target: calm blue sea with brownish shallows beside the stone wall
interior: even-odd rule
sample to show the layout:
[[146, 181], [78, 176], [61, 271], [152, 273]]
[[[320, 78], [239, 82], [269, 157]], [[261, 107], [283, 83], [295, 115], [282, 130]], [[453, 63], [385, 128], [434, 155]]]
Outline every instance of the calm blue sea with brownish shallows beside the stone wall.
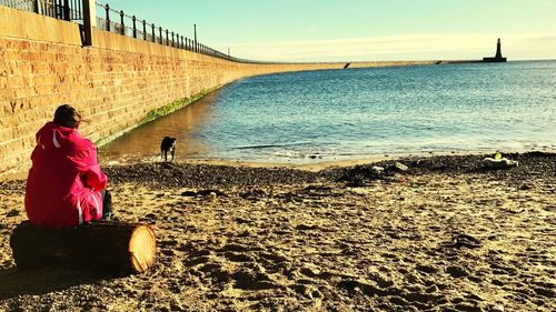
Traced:
[[322, 70], [231, 83], [101, 148], [108, 159], [308, 162], [556, 150], [556, 61]]

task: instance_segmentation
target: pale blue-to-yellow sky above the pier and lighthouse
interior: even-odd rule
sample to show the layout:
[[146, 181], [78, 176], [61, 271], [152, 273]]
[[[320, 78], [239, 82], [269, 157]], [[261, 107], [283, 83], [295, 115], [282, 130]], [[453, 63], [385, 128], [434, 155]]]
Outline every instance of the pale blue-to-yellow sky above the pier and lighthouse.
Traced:
[[246, 59], [556, 59], [556, 0], [98, 1]]

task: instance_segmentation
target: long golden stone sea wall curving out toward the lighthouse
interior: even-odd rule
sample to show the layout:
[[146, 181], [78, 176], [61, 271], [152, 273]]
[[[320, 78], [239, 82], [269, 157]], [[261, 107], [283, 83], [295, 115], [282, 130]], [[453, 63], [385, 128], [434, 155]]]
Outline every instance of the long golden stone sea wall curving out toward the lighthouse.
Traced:
[[[0, 6], [0, 175], [26, 169], [34, 133], [70, 103], [105, 143], [231, 81], [268, 73], [342, 69], [346, 63], [234, 62]], [[349, 68], [435, 63], [353, 62]]]

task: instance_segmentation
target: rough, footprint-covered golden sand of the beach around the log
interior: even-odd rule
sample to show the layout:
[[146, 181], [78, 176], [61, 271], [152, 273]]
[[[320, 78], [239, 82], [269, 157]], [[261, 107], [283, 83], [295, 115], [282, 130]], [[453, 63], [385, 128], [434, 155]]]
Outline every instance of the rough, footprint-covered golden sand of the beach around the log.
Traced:
[[106, 168], [118, 218], [157, 232], [156, 264], [129, 276], [18, 271], [24, 181], [3, 181], [0, 311], [555, 311], [556, 155], [481, 158]]

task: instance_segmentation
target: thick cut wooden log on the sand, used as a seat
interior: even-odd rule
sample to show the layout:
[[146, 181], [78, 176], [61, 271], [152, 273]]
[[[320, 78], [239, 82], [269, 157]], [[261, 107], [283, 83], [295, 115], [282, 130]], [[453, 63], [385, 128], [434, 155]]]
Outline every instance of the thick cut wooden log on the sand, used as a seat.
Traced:
[[102, 273], [141, 273], [155, 262], [156, 239], [146, 224], [92, 222], [44, 230], [21, 222], [10, 246], [19, 269], [70, 268]]

